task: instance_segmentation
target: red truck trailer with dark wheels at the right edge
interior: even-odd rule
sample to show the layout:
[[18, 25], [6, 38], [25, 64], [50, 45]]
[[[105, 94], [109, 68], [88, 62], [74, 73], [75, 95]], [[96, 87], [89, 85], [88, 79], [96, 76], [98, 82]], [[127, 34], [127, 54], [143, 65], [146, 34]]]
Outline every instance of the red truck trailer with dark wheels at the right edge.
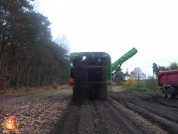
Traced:
[[160, 71], [158, 73], [158, 86], [161, 87], [163, 97], [178, 97], [178, 70]]

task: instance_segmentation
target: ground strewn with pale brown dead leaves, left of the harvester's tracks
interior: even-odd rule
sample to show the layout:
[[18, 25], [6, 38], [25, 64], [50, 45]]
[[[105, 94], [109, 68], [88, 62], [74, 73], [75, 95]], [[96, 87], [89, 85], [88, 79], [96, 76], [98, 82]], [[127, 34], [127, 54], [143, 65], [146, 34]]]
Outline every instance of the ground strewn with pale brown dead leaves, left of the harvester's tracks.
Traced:
[[[71, 90], [63, 90], [49, 97], [24, 100], [15, 105], [1, 106], [0, 123], [4, 117], [15, 115], [20, 133], [48, 134], [71, 100]], [[0, 127], [0, 132], [3, 129]]]

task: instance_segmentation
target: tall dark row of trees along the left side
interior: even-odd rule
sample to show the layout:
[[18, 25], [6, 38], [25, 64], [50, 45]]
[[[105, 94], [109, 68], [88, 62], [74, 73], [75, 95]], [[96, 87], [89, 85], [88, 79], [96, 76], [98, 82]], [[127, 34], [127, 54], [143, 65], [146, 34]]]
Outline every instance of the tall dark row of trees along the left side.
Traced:
[[67, 81], [66, 40], [52, 40], [48, 18], [35, 12], [32, 2], [0, 1], [0, 88]]

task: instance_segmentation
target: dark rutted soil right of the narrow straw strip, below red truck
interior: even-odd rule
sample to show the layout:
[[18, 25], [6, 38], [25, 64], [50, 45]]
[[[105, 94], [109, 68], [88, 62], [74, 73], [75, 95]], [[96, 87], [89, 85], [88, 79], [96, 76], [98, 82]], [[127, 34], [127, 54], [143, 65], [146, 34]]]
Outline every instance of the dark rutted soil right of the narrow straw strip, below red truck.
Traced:
[[166, 133], [178, 132], [178, 99], [163, 98], [160, 93], [110, 93], [117, 103], [140, 115], [150, 125], [138, 123], [140, 128], [150, 127], [158, 133], [155, 126]]

